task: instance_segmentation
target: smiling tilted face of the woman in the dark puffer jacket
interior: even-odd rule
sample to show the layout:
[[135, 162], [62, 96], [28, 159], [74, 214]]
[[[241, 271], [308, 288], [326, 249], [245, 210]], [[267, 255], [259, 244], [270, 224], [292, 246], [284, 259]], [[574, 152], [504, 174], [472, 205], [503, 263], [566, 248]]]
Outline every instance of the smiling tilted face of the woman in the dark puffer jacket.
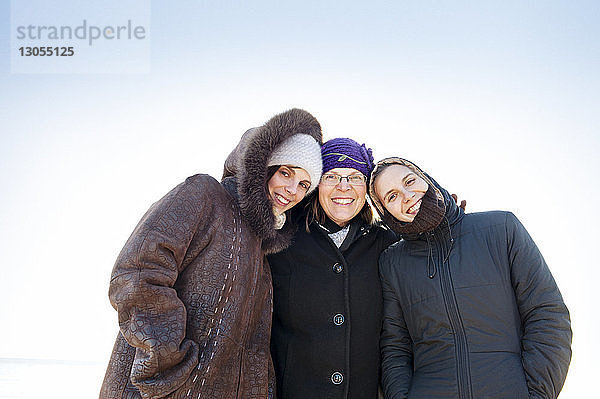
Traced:
[[401, 222], [412, 222], [429, 185], [404, 165], [390, 165], [375, 180], [375, 194], [385, 209]]

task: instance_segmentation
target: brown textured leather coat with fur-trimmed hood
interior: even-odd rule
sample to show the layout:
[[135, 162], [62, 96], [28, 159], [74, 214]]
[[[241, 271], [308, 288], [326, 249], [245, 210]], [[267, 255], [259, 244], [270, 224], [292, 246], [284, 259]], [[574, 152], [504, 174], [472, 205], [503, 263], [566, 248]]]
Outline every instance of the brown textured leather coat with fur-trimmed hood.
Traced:
[[266, 164], [296, 133], [321, 142], [310, 114], [279, 114], [244, 135], [223, 182], [189, 177], [144, 215], [112, 272], [120, 332], [100, 398], [274, 395], [265, 254], [285, 248], [294, 227], [273, 228]]

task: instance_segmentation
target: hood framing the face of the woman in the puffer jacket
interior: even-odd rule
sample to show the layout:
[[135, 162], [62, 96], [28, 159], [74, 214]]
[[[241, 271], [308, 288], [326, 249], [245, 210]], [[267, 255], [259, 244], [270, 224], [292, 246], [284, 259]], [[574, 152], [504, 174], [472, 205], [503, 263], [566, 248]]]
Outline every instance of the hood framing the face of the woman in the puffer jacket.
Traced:
[[[371, 173], [371, 179], [369, 182], [369, 196], [371, 198], [373, 205], [375, 206], [375, 209], [377, 210], [377, 213], [379, 214], [379, 216], [381, 217], [383, 222], [388, 227], [391, 227], [392, 230], [396, 230], [393, 227], [400, 224], [401, 222], [399, 222], [396, 218], [394, 218], [384, 208], [384, 206], [381, 203], [381, 201], [379, 200], [379, 198], [375, 195], [375, 185], [374, 185], [375, 178], [377, 177], [377, 175], [379, 173], [381, 173], [381, 171], [384, 167], [389, 166], [389, 165], [407, 166], [409, 169], [413, 170], [416, 174], [418, 174], [421, 178], [423, 178], [431, 188], [433, 188], [435, 196], [438, 198], [438, 200], [443, 201], [444, 219], [446, 219], [449, 226], [454, 225], [462, 218], [462, 216], [464, 215], [463, 210], [456, 204], [456, 202], [450, 196], [448, 191], [446, 189], [444, 189], [442, 186], [440, 186], [438, 184], [438, 182], [436, 182], [431, 176], [429, 176], [427, 173], [425, 173], [417, 165], [415, 165], [414, 163], [412, 163], [410, 161], [407, 161], [406, 159], [398, 158], [398, 157], [390, 157], [390, 158], [382, 159], [381, 161], [377, 162], [377, 164], [375, 165], [375, 168], [373, 169], [373, 172]], [[401, 234], [401, 236], [404, 239], [414, 239], [414, 238], [416, 238], [416, 236], [419, 236], [419, 234], [417, 234], [416, 236]]]

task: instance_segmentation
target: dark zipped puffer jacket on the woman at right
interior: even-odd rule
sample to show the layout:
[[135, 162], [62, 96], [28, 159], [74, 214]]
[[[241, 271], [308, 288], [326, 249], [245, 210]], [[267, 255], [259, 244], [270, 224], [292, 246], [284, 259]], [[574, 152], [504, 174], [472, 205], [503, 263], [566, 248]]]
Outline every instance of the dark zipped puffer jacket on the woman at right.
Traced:
[[386, 398], [556, 398], [571, 328], [546, 262], [512, 213], [441, 191], [442, 223], [380, 258]]

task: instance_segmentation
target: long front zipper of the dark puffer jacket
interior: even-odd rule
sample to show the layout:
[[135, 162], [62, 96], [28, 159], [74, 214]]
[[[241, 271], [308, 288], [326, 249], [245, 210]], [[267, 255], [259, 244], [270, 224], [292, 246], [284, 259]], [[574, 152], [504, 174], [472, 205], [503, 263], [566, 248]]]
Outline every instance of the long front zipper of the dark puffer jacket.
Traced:
[[461, 399], [472, 399], [467, 337], [458, 312], [456, 297], [454, 296], [452, 276], [450, 274], [450, 249], [448, 249], [447, 259], [444, 259], [443, 251], [440, 248], [440, 246], [443, 245], [444, 240], [445, 238], [440, 236], [435, 242], [437, 244], [437, 263], [440, 269], [442, 295], [446, 304], [448, 319], [450, 320], [456, 343], [458, 395]]

